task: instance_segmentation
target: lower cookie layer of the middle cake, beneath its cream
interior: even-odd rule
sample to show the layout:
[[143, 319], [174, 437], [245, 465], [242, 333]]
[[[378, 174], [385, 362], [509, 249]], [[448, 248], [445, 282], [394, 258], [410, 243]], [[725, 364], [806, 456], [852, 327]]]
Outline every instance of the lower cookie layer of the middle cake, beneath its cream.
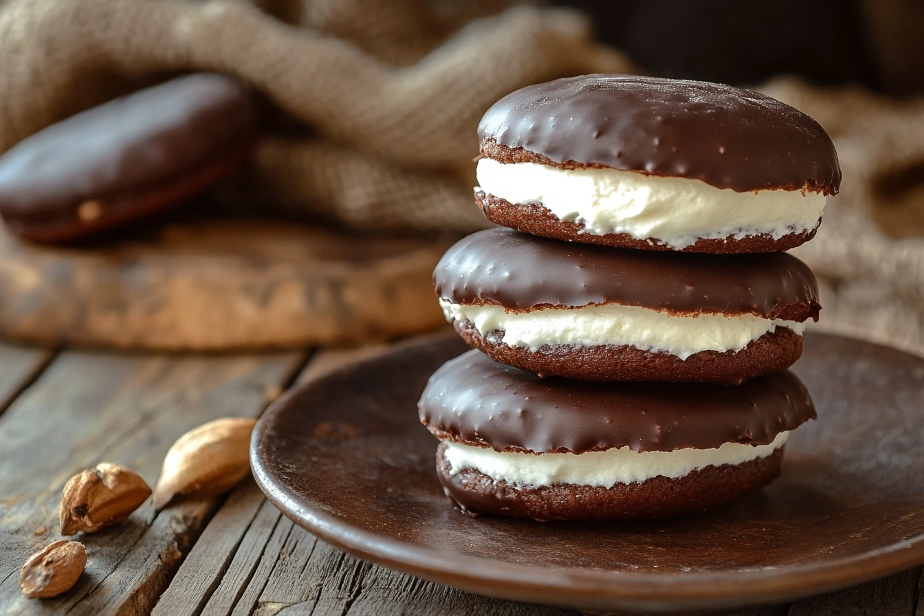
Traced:
[[740, 351], [700, 351], [681, 359], [635, 346], [543, 344], [536, 351], [504, 343], [504, 332], [486, 336], [471, 321], [453, 321], [456, 332], [493, 359], [535, 372], [577, 380], [668, 380], [736, 385], [789, 368], [802, 356], [802, 336], [789, 328], [767, 332]]

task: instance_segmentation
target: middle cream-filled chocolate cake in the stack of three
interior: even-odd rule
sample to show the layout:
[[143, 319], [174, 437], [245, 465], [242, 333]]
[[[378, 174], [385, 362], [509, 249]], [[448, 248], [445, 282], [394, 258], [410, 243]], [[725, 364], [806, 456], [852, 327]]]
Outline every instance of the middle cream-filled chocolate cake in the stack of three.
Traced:
[[626, 250], [495, 228], [433, 272], [468, 344], [540, 375], [739, 383], [784, 370], [817, 319], [818, 284], [784, 253]]

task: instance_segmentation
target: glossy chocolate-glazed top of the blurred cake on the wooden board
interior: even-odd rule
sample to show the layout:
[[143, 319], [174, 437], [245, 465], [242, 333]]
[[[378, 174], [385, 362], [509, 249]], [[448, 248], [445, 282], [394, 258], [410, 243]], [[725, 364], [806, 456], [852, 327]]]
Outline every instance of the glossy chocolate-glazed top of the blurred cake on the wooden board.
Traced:
[[198, 73], [73, 115], [0, 156], [0, 210], [58, 216], [86, 199], [157, 187], [254, 139], [249, 91]]

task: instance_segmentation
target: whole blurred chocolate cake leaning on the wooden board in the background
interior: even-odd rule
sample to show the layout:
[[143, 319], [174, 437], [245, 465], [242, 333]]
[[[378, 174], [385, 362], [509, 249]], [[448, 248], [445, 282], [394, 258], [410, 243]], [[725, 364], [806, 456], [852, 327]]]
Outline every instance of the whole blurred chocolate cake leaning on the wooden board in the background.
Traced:
[[256, 112], [235, 79], [197, 73], [103, 103], [0, 156], [0, 214], [36, 242], [93, 236], [165, 211], [237, 170]]

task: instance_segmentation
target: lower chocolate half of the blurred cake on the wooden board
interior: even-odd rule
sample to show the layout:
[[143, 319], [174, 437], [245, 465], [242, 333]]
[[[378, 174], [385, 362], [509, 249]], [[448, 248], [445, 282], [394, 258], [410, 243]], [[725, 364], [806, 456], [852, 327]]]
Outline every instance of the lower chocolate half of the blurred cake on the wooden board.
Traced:
[[[6, 228], [14, 235], [31, 242], [67, 244], [100, 236], [108, 231], [128, 226], [159, 213], [171, 211], [188, 199], [201, 194], [217, 182], [233, 175], [253, 151], [254, 141], [248, 139], [223, 152], [209, 163], [188, 175], [164, 182], [161, 186], [104, 199], [88, 199], [75, 203], [67, 212], [35, 211], [22, 216], [2, 212]], [[87, 209], [88, 204], [91, 204]]]

